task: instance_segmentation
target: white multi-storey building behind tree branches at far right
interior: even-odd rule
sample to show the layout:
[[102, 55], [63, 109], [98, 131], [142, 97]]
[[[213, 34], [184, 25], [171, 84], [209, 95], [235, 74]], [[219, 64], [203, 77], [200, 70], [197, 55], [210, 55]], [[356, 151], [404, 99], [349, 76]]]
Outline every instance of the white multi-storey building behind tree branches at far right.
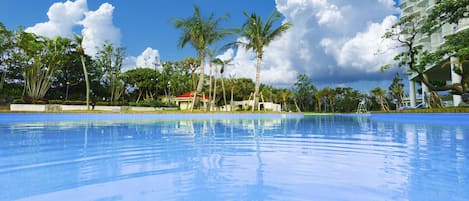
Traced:
[[[407, 16], [413, 13], [420, 12], [421, 15], [428, 15], [435, 5], [436, 0], [401, 0], [400, 7], [402, 9], [402, 15]], [[423, 23], [419, 22], [419, 23]], [[424, 50], [428, 51], [435, 51], [440, 45], [444, 43], [444, 37], [447, 35], [451, 35], [462, 31], [464, 29], [469, 28], [469, 18], [462, 19], [458, 24], [445, 24], [443, 25], [438, 31], [433, 33], [432, 35], [422, 34], [418, 36], [417, 41], [419, 45], [423, 46]], [[452, 63], [457, 63], [456, 58], [450, 58], [448, 61]], [[441, 66], [428, 66], [425, 73], [431, 80], [439, 80], [445, 82], [452, 82], [452, 83], [459, 83], [461, 81], [461, 76], [456, 74], [452, 69], [453, 65], [451, 64], [451, 68], [445, 67], [442, 68]], [[463, 70], [469, 70], [469, 66], [465, 65]], [[409, 76], [409, 98], [410, 98], [410, 105], [411, 107], [416, 106], [416, 74]], [[421, 84], [422, 86], [422, 94], [428, 94], [429, 89], [425, 84]], [[425, 96], [422, 95], [419, 98], [422, 99], [422, 102]], [[458, 106], [462, 102], [461, 96], [453, 95], [453, 105]]]

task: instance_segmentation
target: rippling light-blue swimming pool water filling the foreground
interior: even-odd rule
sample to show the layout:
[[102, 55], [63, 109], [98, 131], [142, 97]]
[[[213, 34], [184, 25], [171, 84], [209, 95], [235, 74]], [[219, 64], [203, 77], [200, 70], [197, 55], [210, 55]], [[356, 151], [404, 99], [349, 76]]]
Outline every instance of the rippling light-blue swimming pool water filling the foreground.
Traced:
[[0, 200], [469, 200], [469, 114], [0, 114]]

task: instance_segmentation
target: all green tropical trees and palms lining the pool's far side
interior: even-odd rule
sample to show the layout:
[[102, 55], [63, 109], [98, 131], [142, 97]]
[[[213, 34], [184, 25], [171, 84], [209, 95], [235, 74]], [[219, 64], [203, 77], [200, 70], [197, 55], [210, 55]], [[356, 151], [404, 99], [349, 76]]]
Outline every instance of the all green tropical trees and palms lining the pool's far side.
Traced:
[[[467, 0], [452, 1], [467, 5]], [[457, 23], [467, 17], [467, 6], [452, 7], [447, 1], [438, 2], [429, 17], [419, 14], [402, 17], [384, 37], [401, 44], [403, 51], [395, 56], [397, 66], [416, 73], [419, 81], [432, 91], [463, 94], [468, 89], [469, 72], [457, 71], [462, 77], [461, 82], [446, 84], [430, 80], [424, 69], [430, 64], [444, 65], [442, 58], [468, 60], [469, 31], [447, 36], [445, 43], [434, 52], [423, 51], [415, 41], [418, 34], [431, 34], [442, 23]], [[203, 110], [248, 99], [256, 105], [259, 98], [280, 104], [284, 111], [301, 112], [355, 112], [360, 102], [366, 102], [368, 110], [388, 111], [402, 104], [406, 95], [399, 74], [395, 75], [388, 90], [376, 87], [368, 92], [351, 87], [320, 88], [306, 74], [298, 75], [292, 87], [262, 84], [260, 76], [266, 47], [293, 25], [278, 22], [281, 15], [276, 11], [265, 21], [256, 13], [245, 12], [244, 15], [246, 21], [240, 28], [223, 28], [221, 23], [228, 20], [228, 15], [215, 17], [211, 13], [204, 16], [200, 8], [194, 6], [192, 16], [174, 18], [171, 23], [181, 31], [178, 46], [192, 46], [196, 57], [136, 66], [131, 70], [123, 69], [125, 47], [105, 43], [98, 47], [96, 56], [91, 57], [85, 54], [83, 38], [79, 35], [72, 39], [46, 38], [27, 33], [22, 28], [9, 30], [0, 22], [0, 105], [83, 104], [89, 108], [90, 102], [94, 102], [98, 105], [163, 107], [174, 106], [167, 104], [166, 97], [186, 92], [195, 93], [191, 109], [200, 108], [197, 104], [199, 95], [208, 95], [211, 101], [209, 107], [200, 108]], [[242, 39], [228, 45], [220, 44], [232, 34]], [[255, 80], [225, 75], [226, 69], [234, 66], [231, 60], [216, 57], [220, 51], [217, 47], [232, 45], [256, 54]], [[155, 60], [160, 61], [160, 58]], [[206, 64], [210, 66], [208, 76], [204, 73]], [[383, 70], [390, 66], [383, 66]], [[254, 105], [249, 110], [256, 110]]]

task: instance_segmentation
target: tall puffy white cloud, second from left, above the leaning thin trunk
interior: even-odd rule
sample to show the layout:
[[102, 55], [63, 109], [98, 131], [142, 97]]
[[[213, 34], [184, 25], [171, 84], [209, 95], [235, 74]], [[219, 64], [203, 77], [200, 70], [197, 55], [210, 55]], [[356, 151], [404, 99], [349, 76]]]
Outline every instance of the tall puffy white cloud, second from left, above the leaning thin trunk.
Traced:
[[81, 31], [83, 35], [83, 48], [85, 53], [94, 56], [98, 49], [105, 42], [115, 46], [120, 45], [121, 34], [119, 28], [114, 26], [113, 19], [114, 6], [103, 3], [96, 11], [88, 11], [80, 24], [83, 25]]

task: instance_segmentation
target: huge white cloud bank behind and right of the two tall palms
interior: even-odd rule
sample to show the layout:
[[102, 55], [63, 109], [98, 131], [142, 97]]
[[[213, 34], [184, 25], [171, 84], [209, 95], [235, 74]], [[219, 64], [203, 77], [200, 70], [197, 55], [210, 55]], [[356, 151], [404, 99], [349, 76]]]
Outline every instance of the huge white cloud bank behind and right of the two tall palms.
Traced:
[[[397, 13], [388, 0], [276, 0], [276, 8], [293, 27], [264, 49], [261, 82], [290, 85], [299, 74], [315, 84], [343, 84], [392, 79], [379, 67], [393, 52], [381, 36]], [[254, 78], [255, 54], [232, 51], [228, 73]], [[227, 53], [226, 53], [227, 54]], [[231, 53], [230, 53], [231, 54]]]

